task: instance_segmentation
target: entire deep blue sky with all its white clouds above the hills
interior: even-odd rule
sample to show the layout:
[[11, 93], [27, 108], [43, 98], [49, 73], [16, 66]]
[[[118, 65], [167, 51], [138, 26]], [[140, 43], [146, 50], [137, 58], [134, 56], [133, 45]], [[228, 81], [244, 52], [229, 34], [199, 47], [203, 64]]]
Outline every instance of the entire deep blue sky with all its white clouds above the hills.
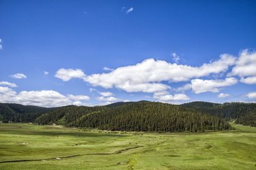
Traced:
[[256, 102], [256, 1], [0, 0], [0, 102]]

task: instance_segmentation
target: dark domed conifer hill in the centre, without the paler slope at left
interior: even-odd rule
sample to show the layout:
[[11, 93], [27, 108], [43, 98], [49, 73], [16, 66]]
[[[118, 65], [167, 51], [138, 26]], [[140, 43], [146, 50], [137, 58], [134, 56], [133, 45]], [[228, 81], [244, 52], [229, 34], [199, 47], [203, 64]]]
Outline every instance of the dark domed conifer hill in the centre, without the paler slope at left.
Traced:
[[110, 131], [204, 132], [230, 129], [221, 118], [172, 104], [147, 101], [97, 111], [67, 125]]

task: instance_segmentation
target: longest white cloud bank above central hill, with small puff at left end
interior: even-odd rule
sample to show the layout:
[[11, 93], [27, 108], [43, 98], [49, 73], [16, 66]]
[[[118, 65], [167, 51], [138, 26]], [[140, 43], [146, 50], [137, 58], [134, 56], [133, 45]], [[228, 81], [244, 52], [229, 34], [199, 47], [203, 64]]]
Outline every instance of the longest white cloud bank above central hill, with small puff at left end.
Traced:
[[[235, 62], [236, 58], [228, 54], [223, 54], [220, 59], [202, 64], [199, 67], [168, 63], [164, 60], [146, 59], [135, 65], [118, 67], [109, 73], [88, 76], [81, 69], [59, 69], [56, 77], [63, 81], [81, 78], [93, 86], [100, 86], [105, 89], [116, 87], [126, 92], [152, 93], [170, 89], [170, 86], [161, 83], [161, 81], [189, 81], [191, 78], [223, 73]], [[186, 90], [189, 87], [184, 88], [183, 90]], [[182, 91], [182, 89], [178, 90]]]

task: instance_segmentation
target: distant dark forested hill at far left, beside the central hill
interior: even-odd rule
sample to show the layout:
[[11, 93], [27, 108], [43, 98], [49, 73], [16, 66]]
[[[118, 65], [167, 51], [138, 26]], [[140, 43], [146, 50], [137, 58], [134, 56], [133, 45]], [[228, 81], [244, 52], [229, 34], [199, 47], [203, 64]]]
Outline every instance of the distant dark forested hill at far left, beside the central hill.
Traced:
[[54, 110], [54, 108], [24, 106], [15, 103], [0, 103], [0, 121], [33, 122], [36, 117], [51, 110]]

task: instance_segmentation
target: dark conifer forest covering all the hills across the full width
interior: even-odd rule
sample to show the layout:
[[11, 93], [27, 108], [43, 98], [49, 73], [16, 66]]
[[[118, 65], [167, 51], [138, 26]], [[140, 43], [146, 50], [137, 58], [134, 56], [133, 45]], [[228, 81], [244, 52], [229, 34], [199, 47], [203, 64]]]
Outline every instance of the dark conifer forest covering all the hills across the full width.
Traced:
[[224, 131], [236, 124], [256, 126], [254, 103], [192, 102], [180, 105], [150, 101], [120, 102], [106, 106], [42, 108], [0, 104], [0, 121], [58, 124], [109, 131], [207, 132]]

